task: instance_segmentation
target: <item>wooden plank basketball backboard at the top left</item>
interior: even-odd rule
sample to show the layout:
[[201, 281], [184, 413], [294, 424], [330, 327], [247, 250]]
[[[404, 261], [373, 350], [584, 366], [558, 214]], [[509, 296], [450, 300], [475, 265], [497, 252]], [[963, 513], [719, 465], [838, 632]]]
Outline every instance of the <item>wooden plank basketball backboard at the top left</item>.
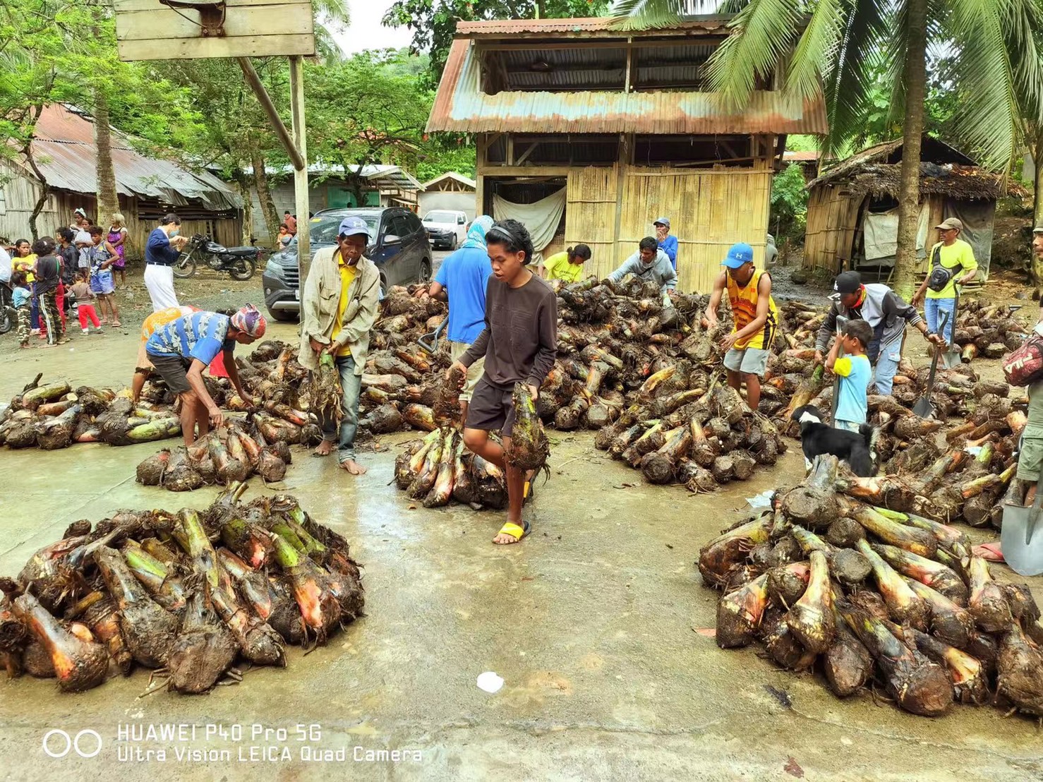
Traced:
[[315, 54], [310, 0], [115, 0], [120, 59]]

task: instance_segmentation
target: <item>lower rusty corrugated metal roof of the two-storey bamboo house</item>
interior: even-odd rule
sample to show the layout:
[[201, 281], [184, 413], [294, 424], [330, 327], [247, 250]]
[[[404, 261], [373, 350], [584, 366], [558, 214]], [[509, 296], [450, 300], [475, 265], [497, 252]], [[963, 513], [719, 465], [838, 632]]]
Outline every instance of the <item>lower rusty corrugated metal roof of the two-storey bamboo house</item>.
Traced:
[[[575, 21], [575, 20], [573, 20]], [[475, 45], [453, 42], [428, 130], [544, 133], [825, 133], [821, 100], [756, 92], [741, 115], [721, 114], [718, 97], [701, 92], [481, 91]]]

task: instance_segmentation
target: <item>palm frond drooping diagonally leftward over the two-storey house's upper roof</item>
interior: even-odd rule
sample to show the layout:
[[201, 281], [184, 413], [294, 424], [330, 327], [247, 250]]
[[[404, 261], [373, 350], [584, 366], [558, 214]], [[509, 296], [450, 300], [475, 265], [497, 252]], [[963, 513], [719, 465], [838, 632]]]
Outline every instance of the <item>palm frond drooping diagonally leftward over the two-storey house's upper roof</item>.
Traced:
[[757, 79], [770, 79], [793, 47], [803, 7], [799, 0], [751, 0], [731, 20], [731, 34], [707, 63], [710, 90], [726, 111], [745, 106]]

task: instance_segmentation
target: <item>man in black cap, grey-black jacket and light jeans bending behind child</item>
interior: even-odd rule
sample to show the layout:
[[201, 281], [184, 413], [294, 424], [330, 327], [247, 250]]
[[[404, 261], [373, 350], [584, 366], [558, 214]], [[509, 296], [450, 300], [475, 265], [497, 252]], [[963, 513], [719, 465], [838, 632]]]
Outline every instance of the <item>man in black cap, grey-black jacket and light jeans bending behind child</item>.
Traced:
[[833, 280], [832, 307], [819, 328], [815, 340], [815, 363], [824, 363], [823, 352], [829, 340], [836, 334], [836, 318], [862, 319], [873, 329], [873, 340], [866, 356], [873, 365], [876, 393], [888, 396], [894, 385], [898, 364], [902, 360], [902, 336], [905, 325], [919, 329], [928, 342], [942, 345], [945, 340], [930, 334], [920, 313], [912, 304], [902, 301], [898, 294], [882, 283], [863, 285], [856, 271], [845, 271]]

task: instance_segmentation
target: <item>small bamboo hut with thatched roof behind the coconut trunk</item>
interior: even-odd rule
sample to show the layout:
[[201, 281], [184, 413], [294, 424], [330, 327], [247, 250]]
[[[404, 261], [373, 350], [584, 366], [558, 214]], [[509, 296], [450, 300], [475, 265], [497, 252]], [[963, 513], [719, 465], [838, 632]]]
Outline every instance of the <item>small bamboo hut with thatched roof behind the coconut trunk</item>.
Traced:
[[[938, 241], [935, 226], [948, 217], [964, 223], [962, 239], [988, 275], [996, 199], [1012, 185], [979, 167], [948, 144], [923, 137], [920, 152], [920, 221], [917, 253], [924, 259]], [[877, 271], [894, 266], [902, 142], [891, 141], [856, 152], [831, 166], [807, 186], [804, 266]]]

